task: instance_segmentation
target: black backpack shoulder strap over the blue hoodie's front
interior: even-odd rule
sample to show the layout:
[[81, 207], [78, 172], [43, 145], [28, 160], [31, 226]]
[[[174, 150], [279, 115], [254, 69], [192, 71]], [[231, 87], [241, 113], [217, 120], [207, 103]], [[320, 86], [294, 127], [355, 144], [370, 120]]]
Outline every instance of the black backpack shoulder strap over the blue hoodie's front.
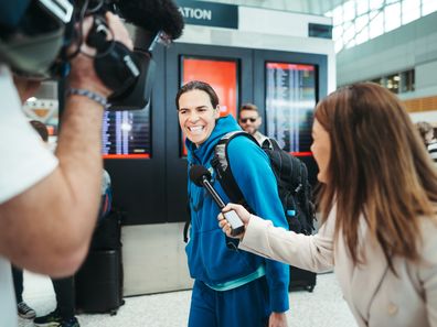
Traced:
[[227, 154], [227, 144], [236, 137], [246, 137], [257, 145], [258, 142], [254, 137], [244, 132], [244, 131], [234, 131], [225, 134], [215, 145], [214, 148], [214, 156], [211, 160], [211, 165], [214, 168], [217, 181], [222, 186], [223, 190], [226, 193], [227, 197], [231, 201], [235, 204], [243, 205], [249, 211], [253, 211], [247, 205], [242, 190], [239, 189], [238, 184], [236, 183], [234, 175], [231, 171], [228, 154]]

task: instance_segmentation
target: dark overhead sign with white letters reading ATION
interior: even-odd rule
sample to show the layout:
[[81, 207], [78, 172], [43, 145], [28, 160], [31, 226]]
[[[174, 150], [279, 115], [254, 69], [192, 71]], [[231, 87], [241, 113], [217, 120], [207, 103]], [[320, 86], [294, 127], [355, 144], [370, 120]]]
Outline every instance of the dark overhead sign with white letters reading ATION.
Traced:
[[177, 0], [185, 24], [238, 29], [238, 6]]

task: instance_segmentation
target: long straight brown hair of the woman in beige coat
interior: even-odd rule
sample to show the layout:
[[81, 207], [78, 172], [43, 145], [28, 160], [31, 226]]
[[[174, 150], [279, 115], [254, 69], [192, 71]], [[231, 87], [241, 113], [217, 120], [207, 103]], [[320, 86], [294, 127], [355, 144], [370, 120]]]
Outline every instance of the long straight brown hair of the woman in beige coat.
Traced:
[[359, 217], [392, 271], [393, 257], [418, 260], [419, 216], [436, 215], [437, 173], [402, 102], [373, 83], [341, 88], [316, 107], [316, 119], [331, 141], [328, 181], [321, 187], [323, 221], [337, 205], [341, 232], [353, 262]]

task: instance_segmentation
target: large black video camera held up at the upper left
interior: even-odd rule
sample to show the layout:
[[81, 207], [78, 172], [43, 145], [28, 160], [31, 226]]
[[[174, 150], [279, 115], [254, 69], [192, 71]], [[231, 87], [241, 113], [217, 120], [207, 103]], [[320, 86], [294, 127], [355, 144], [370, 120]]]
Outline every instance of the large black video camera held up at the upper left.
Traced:
[[[111, 39], [107, 11], [132, 24], [134, 51]], [[81, 52], [82, 23], [89, 15], [94, 24], [85, 42], [96, 50], [98, 77], [114, 90], [107, 109], [145, 108], [154, 73], [153, 46], [182, 34], [183, 19], [172, 0], [1, 1], [0, 61], [29, 78], [64, 78], [70, 61]], [[67, 52], [75, 44], [76, 51]]]

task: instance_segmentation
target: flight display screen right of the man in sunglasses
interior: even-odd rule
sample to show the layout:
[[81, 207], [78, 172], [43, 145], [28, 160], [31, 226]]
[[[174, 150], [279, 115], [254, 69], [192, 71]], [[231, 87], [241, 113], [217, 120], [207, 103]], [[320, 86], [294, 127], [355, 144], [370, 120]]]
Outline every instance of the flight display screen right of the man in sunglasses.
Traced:
[[267, 135], [297, 156], [311, 155], [316, 73], [315, 65], [266, 63]]

